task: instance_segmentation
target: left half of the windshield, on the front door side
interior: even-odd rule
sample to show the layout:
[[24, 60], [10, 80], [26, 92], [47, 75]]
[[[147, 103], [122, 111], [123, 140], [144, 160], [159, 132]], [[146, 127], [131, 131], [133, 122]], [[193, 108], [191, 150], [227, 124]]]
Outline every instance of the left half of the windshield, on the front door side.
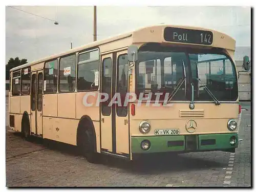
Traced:
[[[184, 70], [185, 69], [185, 70]], [[172, 93], [177, 83], [188, 77], [187, 56], [184, 52], [171, 51], [140, 51], [137, 65], [137, 96], [162, 93], [161, 99], [166, 93]], [[177, 91], [173, 100], [187, 100], [185, 83]]]

